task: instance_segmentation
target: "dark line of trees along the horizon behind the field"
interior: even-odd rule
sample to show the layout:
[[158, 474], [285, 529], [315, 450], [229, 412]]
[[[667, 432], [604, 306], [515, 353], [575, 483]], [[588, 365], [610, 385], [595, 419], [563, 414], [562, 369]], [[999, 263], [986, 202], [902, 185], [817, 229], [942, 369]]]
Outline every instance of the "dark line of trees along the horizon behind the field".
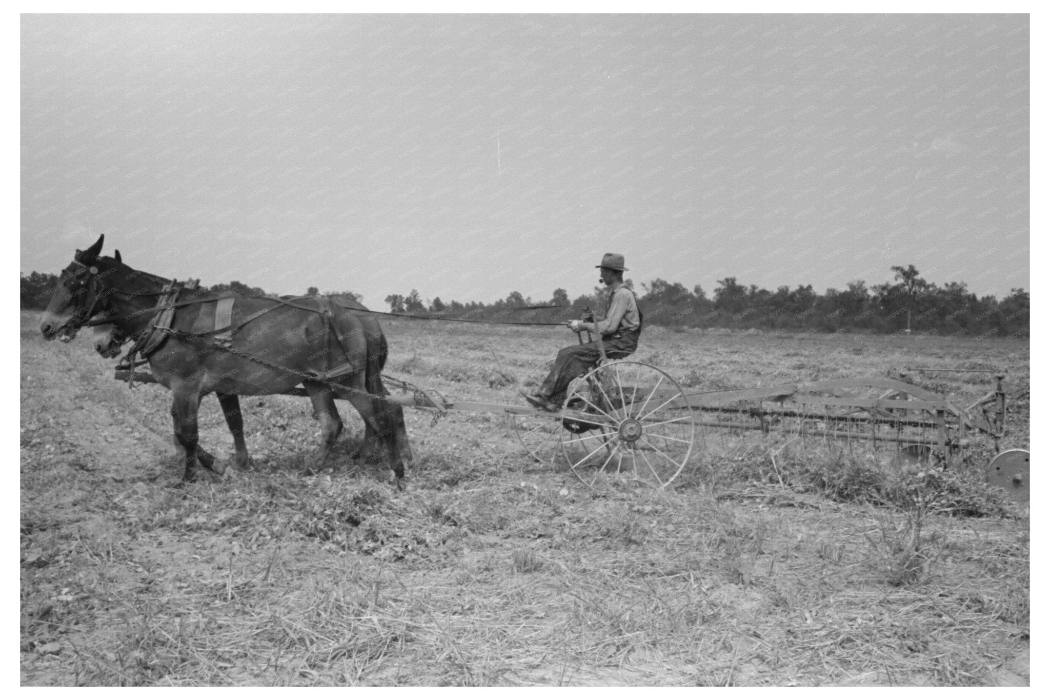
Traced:
[[[779, 287], [775, 292], [756, 284], [746, 285], [736, 277], [717, 282], [711, 296], [695, 285], [686, 289], [680, 282], [656, 278], [643, 282], [638, 305], [647, 324], [697, 328], [758, 328], [764, 331], [816, 333], [914, 333], [968, 337], [1028, 337], [1029, 293], [1012, 289], [999, 300], [993, 295], [978, 297], [966, 282], [938, 285], [919, 276], [915, 266], [894, 266], [892, 281], [867, 287], [864, 280], [849, 282], [845, 290], [828, 289], [823, 294], [812, 284], [794, 290]], [[30, 273], [22, 277], [23, 309], [43, 309], [58, 283], [56, 275]], [[633, 281], [626, 280], [633, 291]], [[259, 288], [238, 281], [214, 284], [209, 291], [219, 294], [264, 296]], [[318, 294], [317, 288], [307, 290]], [[353, 292], [327, 292], [352, 296]], [[549, 299], [533, 300], [511, 292], [491, 303], [479, 301], [424, 300], [417, 290], [407, 295], [391, 294], [384, 302], [394, 314], [427, 318], [467, 318], [519, 322], [560, 322], [580, 318], [585, 306], [604, 312], [608, 294], [595, 287], [590, 294], [569, 299], [564, 289], [554, 290]], [[379, 311], [379, 310], [376, 310]]]

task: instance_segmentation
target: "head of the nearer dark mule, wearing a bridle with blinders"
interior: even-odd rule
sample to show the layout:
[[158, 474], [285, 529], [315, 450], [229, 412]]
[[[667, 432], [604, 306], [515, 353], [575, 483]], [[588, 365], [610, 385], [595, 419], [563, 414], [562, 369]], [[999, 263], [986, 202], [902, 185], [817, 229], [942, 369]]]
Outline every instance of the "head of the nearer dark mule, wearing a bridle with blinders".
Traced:
[[69, 342], [91, 316], [108, 311], [108, 299], [100, 280], [122, 263], [120, 253], [112, 258], [99, 255], [104, 238], [105, 235], [99, 236], [86, 251], [78, 250], [72, 262], [59, 275], [59, 282], [41, 316], [40, 332], [45, 340], [58, 338]]

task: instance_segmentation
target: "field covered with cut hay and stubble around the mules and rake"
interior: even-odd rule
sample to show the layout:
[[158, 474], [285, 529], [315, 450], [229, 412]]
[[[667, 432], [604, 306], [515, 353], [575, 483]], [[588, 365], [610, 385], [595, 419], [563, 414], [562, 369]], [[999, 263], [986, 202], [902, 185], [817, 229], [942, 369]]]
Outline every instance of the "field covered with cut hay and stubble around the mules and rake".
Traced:
[[[506, 416], [406, 409], [399, 492], [383, 463], [351, 461], [348, 404], [330, 468], [307, 476], [308, 400], [242, 399], [253, 468], [237, 471], [208, 397], [201, 441], [229, 469], [180, 488], [167, 390], [113, 381], [87, 332], [46, 343], [21, 321], [24, 685], [1028, 684], [1028, 509], [972, 482], [945, 506], [924, 473], [880, 481], [877, 454], [777, 462], [757, 437], [712, 434], [668, 490], [592, 490], [528, 459]], [[384, 328], [390, 375], [514, 404], [575, 341]], [[1004, 447], [1029, 446], [1026, 340], [652, 328], [634, 359], [712, 389], [1007, 368]], [[991, 388], [915, 380], [964, 405]]]

